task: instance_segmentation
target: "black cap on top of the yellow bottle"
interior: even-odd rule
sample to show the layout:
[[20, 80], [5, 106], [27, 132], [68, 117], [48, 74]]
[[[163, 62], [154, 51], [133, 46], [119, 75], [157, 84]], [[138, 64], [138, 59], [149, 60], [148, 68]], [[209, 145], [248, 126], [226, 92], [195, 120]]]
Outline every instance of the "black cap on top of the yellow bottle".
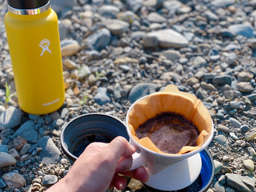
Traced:
[[49, 0], [7, 0], [10, 7], [16, 9], [34, 9], [45, 6]]

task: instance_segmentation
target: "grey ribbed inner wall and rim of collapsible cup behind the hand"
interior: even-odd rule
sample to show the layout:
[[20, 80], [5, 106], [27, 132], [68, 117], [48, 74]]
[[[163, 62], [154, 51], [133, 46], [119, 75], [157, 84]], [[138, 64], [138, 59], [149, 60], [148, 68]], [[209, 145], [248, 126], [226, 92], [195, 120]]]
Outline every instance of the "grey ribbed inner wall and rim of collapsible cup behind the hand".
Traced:
[[111, 138], [122, 136], [129, 141], [125, 124], [114, 116], [101, 113], [88, 113], [69, 121], [61, 132], [61, 148], [70, 163], [78, 158], [73, 153], [74, 147], [88, 134], [103, 133]]

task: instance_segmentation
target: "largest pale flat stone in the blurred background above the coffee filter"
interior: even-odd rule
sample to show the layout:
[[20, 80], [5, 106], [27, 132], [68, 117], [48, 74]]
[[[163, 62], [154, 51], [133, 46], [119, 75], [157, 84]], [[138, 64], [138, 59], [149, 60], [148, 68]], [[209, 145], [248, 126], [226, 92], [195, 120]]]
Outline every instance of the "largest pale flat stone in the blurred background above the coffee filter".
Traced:
[[189, 41], [181, 33], [173, 29], [162, 29], [146, 33], [145, 37], [155, 37], [158, 45], [164, 48], [182, 48], [189, 45]]

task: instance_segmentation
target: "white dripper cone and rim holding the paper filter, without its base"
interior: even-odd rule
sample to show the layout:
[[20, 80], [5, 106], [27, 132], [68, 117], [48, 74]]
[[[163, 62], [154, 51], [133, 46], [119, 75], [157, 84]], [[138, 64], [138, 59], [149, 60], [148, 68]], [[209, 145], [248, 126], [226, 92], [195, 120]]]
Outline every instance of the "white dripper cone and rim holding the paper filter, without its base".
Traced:
[[[148, 95], [147, 95], [148, 96]], [[181, 155], [175, 155], [175, 154], [162, 154], [162, 153], [158, 153], [158, 152], [154, 152], [152, 150], [149, 150], [148, 148], [141, 146], [132, 136], [130, 129], [128, 128], [128, 114], [131, 112], [131, 110], [133, 109], [133, 106], [141, 99], [144, 99], [144, 96], [140, 99], [138, 99], [137, 101], [135, 101], [135, 103], [133, 103], [133, 105], [129, 108], [128, 113], [126, 115], [126, 128], [127, 128], [127, 132], [128, 135], [131, 139], [131, 144], [133, 144], [134, 146], [136, 146], [137, 148], [137, 153], [139, 154], [135, 154], [135, 156], [137, 156], [135, 159], [133, 159], [133, 165], [131, 167], [130, 170], [136, 169], [140, 166], [145, 166], [148, 167], [147, 170], [149, 172], [151, 172], [152, 174], [157, 174], [161, 171], [163, 171], [164, 169], [168, 168], [169, 166], [174, 165], [175, 163], [178, 163], [184, 159], [187, 159], [199, 152], [201, 152], [203, 149], [205, 149], [209, 143], [211, 142], [212, 138], [213, 138], [213, 123], [212, 123], [212, 131], [211, 131], [211, 135], [209, 136], [208, 140], [201, 146], [198, 147], [197, 149], [195, 149], [194, 151], [185, 153], [185, 154], [181, 154]], [[134, 156], [134, 157], [135, 157]]]

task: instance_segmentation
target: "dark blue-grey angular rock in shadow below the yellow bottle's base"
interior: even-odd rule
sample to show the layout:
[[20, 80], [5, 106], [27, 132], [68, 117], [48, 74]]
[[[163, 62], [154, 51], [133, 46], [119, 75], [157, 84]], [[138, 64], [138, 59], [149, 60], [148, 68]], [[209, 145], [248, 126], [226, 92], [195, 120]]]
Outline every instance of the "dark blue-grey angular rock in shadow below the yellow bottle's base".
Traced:
[[38, 132], [34, 129], [35, 123], [33, 120], [26, 121], [20, 128], [14, 132], [13, 136], [21, 136], [28, 143], [38, 139]]

